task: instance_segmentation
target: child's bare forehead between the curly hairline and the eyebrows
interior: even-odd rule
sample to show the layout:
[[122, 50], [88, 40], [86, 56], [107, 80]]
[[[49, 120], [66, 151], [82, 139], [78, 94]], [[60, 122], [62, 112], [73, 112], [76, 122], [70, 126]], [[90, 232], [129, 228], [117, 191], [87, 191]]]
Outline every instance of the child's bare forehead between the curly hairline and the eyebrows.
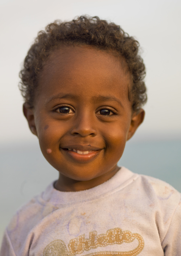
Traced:
[[130, 83], [125, 60], [114, 52], [92, 46], [63, 46], [51, 52], [44, 63], [38, 94], [56, 94], [60, 89], [82, 94], [83, 90], [87, 97], [88, 92], [94, 96], [114, 89], [115, 94], [124, 92], [128, 96]]

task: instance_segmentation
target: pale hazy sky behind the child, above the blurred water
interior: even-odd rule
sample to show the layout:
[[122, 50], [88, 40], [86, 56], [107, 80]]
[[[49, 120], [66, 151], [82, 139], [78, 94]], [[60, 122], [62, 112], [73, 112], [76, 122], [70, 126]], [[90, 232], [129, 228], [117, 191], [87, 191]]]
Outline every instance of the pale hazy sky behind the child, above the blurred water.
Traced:
[[0, 143], [33, 143], [22, 114], [19, 71], [37, 32], [56, 19], [99, 16], [120, 25], [141, 46], [148, 103], [135, 140], [181, 139], [181, 2], [179, 0], [1, 0]]

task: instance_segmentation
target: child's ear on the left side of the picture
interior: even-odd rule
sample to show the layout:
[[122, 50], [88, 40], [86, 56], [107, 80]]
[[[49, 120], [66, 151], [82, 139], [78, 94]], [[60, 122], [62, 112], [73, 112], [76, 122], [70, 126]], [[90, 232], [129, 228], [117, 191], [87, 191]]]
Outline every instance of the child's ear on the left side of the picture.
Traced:
[[34, 109], [31, 108], [26, 102], [23, 104], [23, 113], [28, 121], [31, 132], [38, 136], [35, 125]]

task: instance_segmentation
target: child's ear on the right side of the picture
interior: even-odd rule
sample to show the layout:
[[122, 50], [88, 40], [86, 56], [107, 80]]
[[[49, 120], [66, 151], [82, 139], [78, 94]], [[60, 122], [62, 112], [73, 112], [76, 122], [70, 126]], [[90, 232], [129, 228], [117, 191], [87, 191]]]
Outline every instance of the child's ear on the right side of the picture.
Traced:
[[145, 111], [142, 108], [139, 110], [139, 112], [133, 113], [127, 140], [129, 140], [133, 136], [133, 134], [136, 132], [136, 129], [143, 122], [144, 116], [145, 116]]

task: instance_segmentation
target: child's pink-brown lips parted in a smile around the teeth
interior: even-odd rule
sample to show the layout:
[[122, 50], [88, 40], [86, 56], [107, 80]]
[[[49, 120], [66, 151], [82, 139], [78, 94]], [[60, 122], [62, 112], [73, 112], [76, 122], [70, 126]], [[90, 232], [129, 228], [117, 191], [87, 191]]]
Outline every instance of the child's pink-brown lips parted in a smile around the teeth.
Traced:
[[[88, 154], [78, 154], [77, 152], [68, 150], [68, 148], [76, 149], [80, 151], [90, 151], [90, 152]], [[76, 145], [66, 145], [66, 146], [60, 147], [60, 150], [72, 160], [79, 163], [86, 163], [96, 158], [100, 154], [100, 152], [103, 150], [103, 148], [98, 148], [91, 145], [76, 144]]]

